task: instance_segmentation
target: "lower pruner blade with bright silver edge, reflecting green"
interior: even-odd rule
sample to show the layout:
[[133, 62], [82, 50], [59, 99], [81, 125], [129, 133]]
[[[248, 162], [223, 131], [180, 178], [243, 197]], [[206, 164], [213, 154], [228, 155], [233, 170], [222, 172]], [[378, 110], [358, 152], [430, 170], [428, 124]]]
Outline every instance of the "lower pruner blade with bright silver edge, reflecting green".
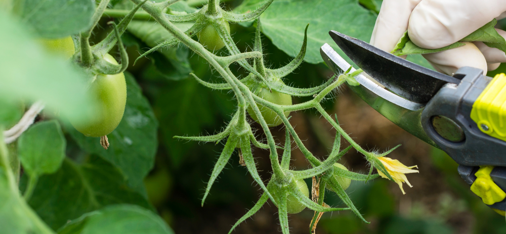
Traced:
[[[350, 64], [339, 56], [328, 44], [320, 48], [320, 54], [323, 61], [336, 74], [343, 73], [350, 67]], [[350, 72], [353, 71], [355, 71], [355, 68], [352, 68]], [[438, 147], [421, 127], [421, 112], [424, 110], [424, 104], [415, 103], [399, 97], [379, 87], [362, 74], [357, 75], [355, 79], [360, 85], [349, 87], [362, 98], [362, 100], [413, 136]]]

